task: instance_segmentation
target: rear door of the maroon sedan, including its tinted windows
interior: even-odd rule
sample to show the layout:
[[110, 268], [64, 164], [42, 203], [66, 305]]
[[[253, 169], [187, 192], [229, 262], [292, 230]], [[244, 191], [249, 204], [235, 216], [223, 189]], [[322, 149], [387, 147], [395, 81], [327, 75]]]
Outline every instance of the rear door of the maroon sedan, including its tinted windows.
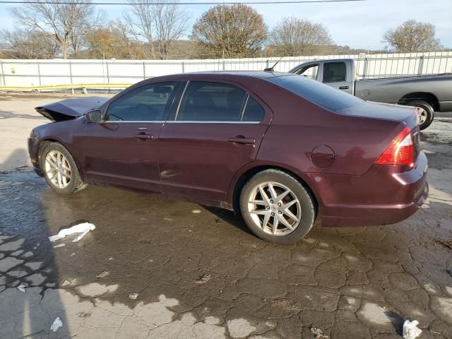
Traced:
[[162, 191], [224, 201], [233, 175], [256, 158], [270, 119], [270, 109], [237, 84], [189, 81], [160, 133]]

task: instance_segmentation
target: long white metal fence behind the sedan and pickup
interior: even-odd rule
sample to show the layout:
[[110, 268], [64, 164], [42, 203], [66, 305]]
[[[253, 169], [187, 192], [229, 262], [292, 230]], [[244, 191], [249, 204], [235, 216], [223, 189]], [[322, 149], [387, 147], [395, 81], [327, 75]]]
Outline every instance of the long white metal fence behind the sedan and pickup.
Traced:
[[[285, 57], [275, 71], [316, 59], [352, 58], [360, 78], [452, 73], [452, 52]], [[195, 71], [262, 70], [279, 58], [199, 60], [0, 59], [0, 86], [136, 83], [153, 76]], [[0, 88], [1, 89], [1, 88]]]

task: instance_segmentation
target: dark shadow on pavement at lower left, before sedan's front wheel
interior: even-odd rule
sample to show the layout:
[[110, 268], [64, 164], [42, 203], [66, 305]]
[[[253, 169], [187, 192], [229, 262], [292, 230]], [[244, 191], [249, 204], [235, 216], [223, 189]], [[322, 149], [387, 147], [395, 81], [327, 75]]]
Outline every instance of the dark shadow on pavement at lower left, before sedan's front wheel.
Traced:
[[57, 287], [59, 273], [40, 201], [42, 180], [32, 174], [30, 167], [0, 174], [0, 338], [70, 338], [67, 326], [50, 331], [57, 317], [67, 319], [58, 293], [44, 295]]

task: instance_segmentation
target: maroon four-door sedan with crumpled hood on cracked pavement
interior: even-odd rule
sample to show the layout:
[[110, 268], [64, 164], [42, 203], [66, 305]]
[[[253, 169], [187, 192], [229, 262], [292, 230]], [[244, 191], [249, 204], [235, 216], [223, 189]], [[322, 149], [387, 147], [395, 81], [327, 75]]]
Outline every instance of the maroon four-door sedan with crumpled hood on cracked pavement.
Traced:
[[410, 107], [364, 102], [287, 73], [151, 78], [109, 100], [37, 111], [33, 165], [61, 194], [124, 186], [241, 211], [269, 242], [323, 227], [386, 225], [427, 198]]

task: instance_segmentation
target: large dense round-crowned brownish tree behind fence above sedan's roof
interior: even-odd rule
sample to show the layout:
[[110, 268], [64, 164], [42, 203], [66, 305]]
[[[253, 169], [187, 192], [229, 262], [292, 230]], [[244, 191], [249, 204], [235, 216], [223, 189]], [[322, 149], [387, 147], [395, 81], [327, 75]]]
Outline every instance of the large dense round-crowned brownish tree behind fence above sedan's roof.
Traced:
[[254, 8], [217, 5], [198, 18], [191, 38], [208, 57], [254, 57], [267, 32], [263, 17]]

